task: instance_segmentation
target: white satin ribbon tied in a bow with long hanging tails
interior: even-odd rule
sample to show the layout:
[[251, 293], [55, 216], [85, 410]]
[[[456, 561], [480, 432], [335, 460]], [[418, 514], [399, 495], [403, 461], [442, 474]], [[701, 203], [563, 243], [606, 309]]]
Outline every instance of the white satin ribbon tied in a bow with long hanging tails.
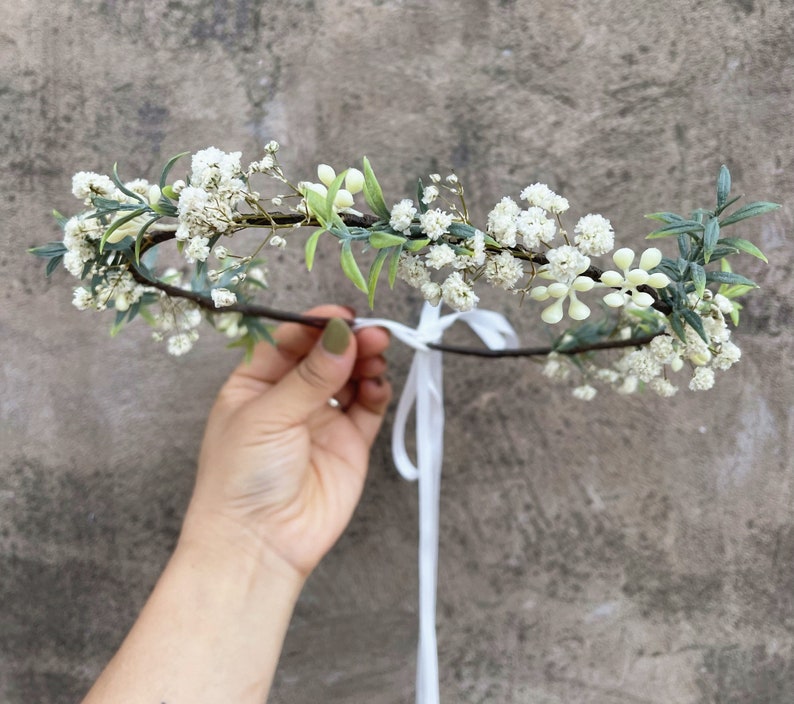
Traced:
[[[392, 454], [397, 470], [409, 481], [419, 480], [419, 648], [416, 704], [438, 704], [436, 644], [436, 581], [441, 465], [444, 458], [444, 370], [438, 343], [456, 321], [465, 322], [491, 349], [518, 346], [518, 338], [501, 313], [472, 310], [441, 316], [441, 306], [425, 303], [419, 325], [410, 328], [394, 320], [357, 318], [356, 329], [387, 328], [416, 350], [392, 429]], [[405, 448], [405, 427], [416, 404], [416, 464]]]

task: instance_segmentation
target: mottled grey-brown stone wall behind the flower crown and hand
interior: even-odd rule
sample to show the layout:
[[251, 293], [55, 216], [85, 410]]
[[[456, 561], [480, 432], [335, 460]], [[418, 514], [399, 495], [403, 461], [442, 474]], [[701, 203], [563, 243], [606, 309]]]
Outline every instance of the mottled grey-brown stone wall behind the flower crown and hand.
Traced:
[[[76, 170], [153, 176], [276, 138], [306, 176], [367, 154], [393, 200], [454, 168], [480, 218], [545, 180], [634, 245], [643, 213], [710, 203], [723, 162], [738, 192], [787, 203], [736, 233], [772, 264], [742, 260], [763, 290], [712, 392], [585, 405], [527, 361], [447, 360], [439, 642], [447, 702], [794, 701], [790, 0], [0, 7], [0, 700], [77, 701], [118, 646], [236, 362], [209, 334], [182, 360], [143, 327], [110, 340], [24, 250], [75, 208]], [[300, 263], [271, 262], [276, 304], [366, 307], [335, 265]], [[405, 291], [379, 312], [413, 320]], [[399, 386], [409, 356], [391, 360]], [[413, 701], [416, 538], [384, 434], [271, 701]]]

